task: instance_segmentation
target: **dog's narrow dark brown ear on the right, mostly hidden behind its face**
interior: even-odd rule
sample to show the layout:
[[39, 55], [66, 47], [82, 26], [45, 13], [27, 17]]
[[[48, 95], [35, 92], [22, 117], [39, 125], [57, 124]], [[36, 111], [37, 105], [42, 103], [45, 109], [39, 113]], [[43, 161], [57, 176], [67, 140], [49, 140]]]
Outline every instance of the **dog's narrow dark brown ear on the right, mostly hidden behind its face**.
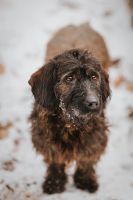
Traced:
[[109, 86], [109, 75], [105, 70], [102, 70], [102, 80], [101, 80], [101, 91], [102, 91], [102, 100], [106, 103], [107, 99], [110, 98], [111, 90]]

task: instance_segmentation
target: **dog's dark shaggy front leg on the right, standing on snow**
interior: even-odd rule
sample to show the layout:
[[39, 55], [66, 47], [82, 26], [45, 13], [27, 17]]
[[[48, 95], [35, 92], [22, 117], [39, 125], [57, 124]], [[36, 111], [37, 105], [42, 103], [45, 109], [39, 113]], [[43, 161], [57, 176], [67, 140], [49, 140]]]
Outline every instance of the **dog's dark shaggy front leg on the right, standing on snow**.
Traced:
[[97, 176], [92, 163], [78, 161], [74, 174], [74, 183], [77, 188], [94, 193], [98, 189]]

